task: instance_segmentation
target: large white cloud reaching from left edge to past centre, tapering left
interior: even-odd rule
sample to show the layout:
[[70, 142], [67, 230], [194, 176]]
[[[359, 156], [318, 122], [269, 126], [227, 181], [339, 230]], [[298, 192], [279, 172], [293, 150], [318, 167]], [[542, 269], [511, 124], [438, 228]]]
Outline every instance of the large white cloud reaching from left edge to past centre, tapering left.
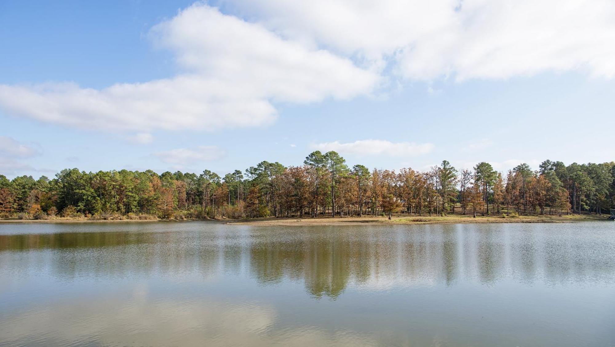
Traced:
[[370, 94], [375, 72], [350, 59], [282, 39], [263, 26], [197, 3], [150, 32], [182, 72], [101, 90], [75, 83], [0, 85], [0, 109], [85, 129], [143, 131], [261, 126], [272, 102], [318, 102]]

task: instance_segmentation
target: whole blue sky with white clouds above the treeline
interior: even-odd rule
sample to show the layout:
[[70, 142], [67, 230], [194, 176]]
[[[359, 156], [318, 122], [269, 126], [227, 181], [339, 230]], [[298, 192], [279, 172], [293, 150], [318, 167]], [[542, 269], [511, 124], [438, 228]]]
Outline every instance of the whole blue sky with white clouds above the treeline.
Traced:
[[0, 174], [615, 160], [615, 2], [1, 1]]

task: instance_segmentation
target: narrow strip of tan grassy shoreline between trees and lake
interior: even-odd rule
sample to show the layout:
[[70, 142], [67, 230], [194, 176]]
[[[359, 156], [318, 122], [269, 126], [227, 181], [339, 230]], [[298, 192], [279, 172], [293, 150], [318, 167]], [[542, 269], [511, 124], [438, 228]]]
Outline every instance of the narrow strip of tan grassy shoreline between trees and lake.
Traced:
[[483, 223], [575, 223], [582, 221], [608, 221], [608, 216], [598, 215], [539, 215], [518, 216], [516, 218], [499, 216], [450, 215], [450, 216], [404, 216], [397, 215], [389, 220], [386, 216], [318, 216], [317, 218], [254, 218], [254, 219], [89, 219], [89, 218], [54, 218], [54, 219], [0, 219], [0, 224], [22, 223], [173, 223], [185, 221], [207, 221], [227, 225], [247, 226], [358, 226], [368, 224], [483, 224]]

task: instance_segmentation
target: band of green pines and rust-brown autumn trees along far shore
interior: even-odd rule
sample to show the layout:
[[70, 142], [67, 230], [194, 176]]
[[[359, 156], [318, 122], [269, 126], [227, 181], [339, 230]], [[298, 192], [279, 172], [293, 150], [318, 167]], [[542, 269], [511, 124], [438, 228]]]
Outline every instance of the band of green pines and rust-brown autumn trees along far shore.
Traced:
[[615, 162], [544, 161], [497, 172], [488, 162], [426, 172], [349, 166], [335, 151], [303, 166], [263, 161], [220, 175], [152, 170], [84, 172], [49, 179], [0, 175], [0, 218], [210, 219], [258, 217], [602, 214], [615, 208]]

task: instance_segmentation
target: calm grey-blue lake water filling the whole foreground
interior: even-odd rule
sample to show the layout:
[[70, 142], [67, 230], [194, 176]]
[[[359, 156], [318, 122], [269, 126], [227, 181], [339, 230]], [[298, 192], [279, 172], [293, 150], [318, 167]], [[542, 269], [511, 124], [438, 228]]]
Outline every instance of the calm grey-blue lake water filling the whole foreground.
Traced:
[[0, 224], [0, 346], [615, 346], [615, 223]]

